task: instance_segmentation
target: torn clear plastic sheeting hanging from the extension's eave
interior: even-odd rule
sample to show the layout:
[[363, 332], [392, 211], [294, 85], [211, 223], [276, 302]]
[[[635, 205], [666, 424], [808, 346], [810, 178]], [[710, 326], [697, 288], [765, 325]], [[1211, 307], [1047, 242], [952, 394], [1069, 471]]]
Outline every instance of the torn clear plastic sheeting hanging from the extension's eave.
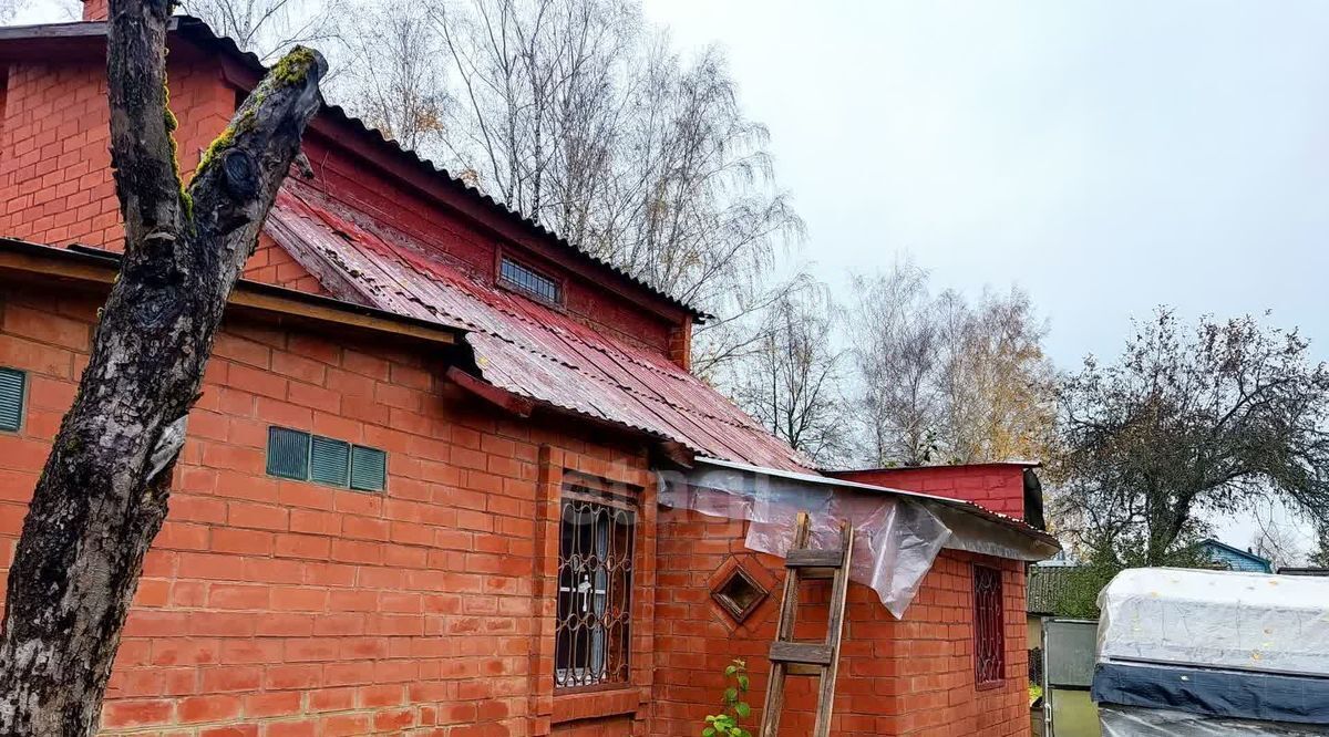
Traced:
[[750, 521], [746, 544], [758, 552], [783, 558], [800, 511], [812, 517], [812, 547], [837, 546], [840, 523], [851, 523], [855, 550], [849, 578], [876, 591], [897, 619], [942, 547], [1021, 560], [1039, 560], [1057, 551], [922, 494], [711, 461], [687, 473], [658, 475], [659, 503]]

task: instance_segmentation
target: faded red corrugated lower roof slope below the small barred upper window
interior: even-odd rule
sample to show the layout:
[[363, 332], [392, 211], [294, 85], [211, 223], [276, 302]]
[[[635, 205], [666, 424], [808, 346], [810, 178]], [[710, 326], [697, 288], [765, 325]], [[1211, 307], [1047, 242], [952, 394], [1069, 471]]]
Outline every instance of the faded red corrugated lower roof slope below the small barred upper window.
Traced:
[[700, 455], [807, 471], [808, 462], [666, 357], [466, 276], [423, 243], [296, 183], [266, 231], [335, 296], [466, 331], [482, 378]]

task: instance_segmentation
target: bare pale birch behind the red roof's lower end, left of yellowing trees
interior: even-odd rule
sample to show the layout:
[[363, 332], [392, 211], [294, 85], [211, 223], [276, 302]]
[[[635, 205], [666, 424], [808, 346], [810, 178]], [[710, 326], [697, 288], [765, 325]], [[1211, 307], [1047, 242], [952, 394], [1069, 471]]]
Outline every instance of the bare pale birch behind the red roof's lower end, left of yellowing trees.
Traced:
[[776, 437], [823, 466], [841, 461], [852, 428], [836, 348], [837, 309], [823, 286], [783, 296], [743, 361], [735, 398]]

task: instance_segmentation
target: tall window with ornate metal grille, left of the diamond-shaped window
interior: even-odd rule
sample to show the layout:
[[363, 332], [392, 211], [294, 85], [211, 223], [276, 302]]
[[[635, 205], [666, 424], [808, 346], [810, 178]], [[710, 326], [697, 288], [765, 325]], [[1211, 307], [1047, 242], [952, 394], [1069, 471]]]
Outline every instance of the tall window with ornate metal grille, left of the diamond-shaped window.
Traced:
[[626, 683], [637, 510], [626, 499], [569, 486], [558, 527], [554, 685]]

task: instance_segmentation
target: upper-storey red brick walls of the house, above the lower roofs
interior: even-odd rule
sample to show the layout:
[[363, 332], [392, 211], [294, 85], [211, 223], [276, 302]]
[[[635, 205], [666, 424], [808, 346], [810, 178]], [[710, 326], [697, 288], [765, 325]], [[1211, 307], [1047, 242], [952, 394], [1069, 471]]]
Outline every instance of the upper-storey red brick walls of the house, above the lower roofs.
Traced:
[[[181, 170], [187, 181], [198, 158], [226, 127], [242, 93], [207, 58], [169, 64], [170, 105], [179, 120]], [[195, 54], [197, 56], [197, 54]], [[118, 251], [124, 228], [110, 171], [105, 65], [92, 58], [12, 64], [0, 105], [0, 235], [64, 246], [82, 243]], [[376, 222], [436, 248], [453, 263], [493, 280], [500, 250], [565, 280], [566, 311], [625, 343], [687, 365], [690, 319], [664, 317], [615, 296], [594, 270], [581, 274], [541, 259], [524, 243], [506, 243], [441, 206], [388, 171], [344, 150], [346, 131], [311, 129], [303, 150], [311, 182]], [[246, 278], [326, 293], [303, 267], [262, 238]]]

